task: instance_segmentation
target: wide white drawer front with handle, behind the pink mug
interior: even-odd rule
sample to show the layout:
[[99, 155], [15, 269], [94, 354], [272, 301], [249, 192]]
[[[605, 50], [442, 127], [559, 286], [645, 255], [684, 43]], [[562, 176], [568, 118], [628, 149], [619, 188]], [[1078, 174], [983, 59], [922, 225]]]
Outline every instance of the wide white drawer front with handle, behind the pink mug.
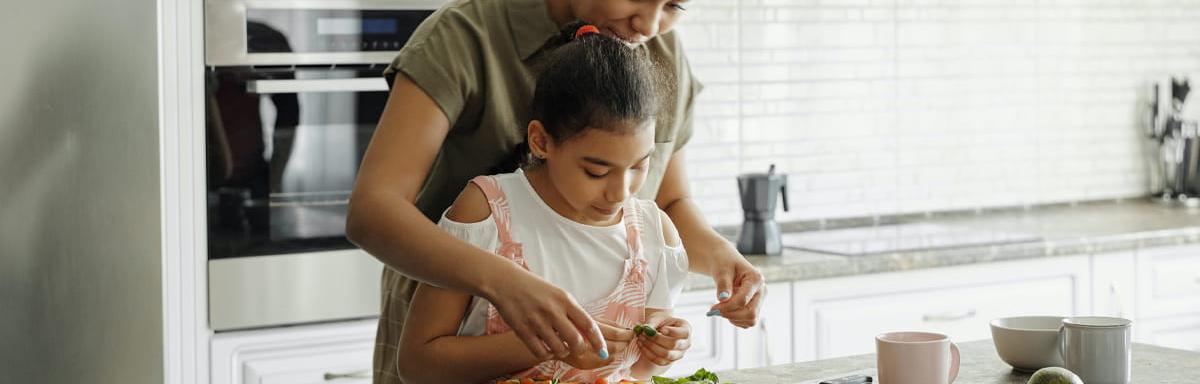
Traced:
[[872, 353], [875, 335], [943, 332], [990, 337], [988, 323], [1091, 310], [1088, 257], [1056, 257], [797, 282], [797, 361]]

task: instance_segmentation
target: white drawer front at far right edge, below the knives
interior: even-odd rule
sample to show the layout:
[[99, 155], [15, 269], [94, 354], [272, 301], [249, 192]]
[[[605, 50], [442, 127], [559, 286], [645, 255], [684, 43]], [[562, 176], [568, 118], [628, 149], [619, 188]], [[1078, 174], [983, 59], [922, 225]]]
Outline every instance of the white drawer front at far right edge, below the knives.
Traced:
[[1139, 252], [1140, 317], [1200, 314], [1200, 247]]

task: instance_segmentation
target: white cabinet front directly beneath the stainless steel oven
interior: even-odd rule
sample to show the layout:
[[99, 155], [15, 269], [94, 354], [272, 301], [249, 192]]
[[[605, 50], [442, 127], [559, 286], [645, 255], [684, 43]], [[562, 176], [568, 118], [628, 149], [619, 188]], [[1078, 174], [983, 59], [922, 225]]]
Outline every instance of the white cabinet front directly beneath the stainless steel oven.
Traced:
[[376, 324], [359, 320], [212, 336], [212, 384], [371, 383]]

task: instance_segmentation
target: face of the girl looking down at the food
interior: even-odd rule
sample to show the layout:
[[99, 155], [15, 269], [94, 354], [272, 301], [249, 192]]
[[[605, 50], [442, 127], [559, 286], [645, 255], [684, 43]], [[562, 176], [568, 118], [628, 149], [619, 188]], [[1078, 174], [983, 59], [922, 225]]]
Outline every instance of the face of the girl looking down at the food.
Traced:
[[628, 124], [618, 130], [624, 133], [584, 128], [564, 143], [554, 143], [541, 122], [529, 124], [529, 150], [545, 160], [541, 168], [557, 192], [544, 197], [559, 214], [593, 226], [618, 220], [620, 205], [646, 181], [654, 150], [653, 119]]

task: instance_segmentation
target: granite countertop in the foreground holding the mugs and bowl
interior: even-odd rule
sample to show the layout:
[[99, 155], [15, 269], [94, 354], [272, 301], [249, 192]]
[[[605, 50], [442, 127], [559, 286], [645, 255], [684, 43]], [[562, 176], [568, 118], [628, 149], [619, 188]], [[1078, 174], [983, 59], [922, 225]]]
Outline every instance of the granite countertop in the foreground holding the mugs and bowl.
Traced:
[[[1020, 373], [1000, 360], [990, 340], [959, 344], [961, 365], [958, 384], [1025, 384], [1028, 373]], [[770, 367], [718, 372], [721, 383], [742, 384], [816, 384], [822, 379], [848, 374], [875, 377], [875, 355], [857, 355]], [[1200, 372], [1200, 353], [1148, 344], [1133, 347], [1133, 384], [1195, 383]]]

